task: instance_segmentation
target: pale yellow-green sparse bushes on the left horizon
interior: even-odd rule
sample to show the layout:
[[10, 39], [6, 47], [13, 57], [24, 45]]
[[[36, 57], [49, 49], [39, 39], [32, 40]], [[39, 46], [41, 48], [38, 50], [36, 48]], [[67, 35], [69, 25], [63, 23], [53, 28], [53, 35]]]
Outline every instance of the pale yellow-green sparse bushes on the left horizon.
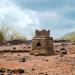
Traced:
[[[11, 33], [10, 33], [11, 32]], [[0, 27], [0, 41], [13, 41], [25, 42], [27, 39], [22, 33], [13, 31], [7, 25], [1, 25]]]

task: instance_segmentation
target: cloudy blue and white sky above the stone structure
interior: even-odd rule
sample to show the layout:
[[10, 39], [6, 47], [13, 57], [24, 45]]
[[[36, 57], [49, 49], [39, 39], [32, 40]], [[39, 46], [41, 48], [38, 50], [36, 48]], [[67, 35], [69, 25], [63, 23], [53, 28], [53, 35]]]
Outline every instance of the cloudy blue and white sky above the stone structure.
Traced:
[[0, 0], [0, 25], [31, 38], [35, 29], [53, 37], [75, 31], [75, 0]]

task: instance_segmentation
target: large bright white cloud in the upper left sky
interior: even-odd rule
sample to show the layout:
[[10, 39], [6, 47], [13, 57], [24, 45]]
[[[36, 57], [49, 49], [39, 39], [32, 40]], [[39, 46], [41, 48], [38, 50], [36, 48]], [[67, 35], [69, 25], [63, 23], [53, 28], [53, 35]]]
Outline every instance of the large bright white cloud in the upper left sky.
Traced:
[[[35, 11], [22, 10], [10, 0], [0, 1], [0, 24], [6, 24], [12, 29], [24, 33], [39, 28], [39, 20]], [[26, 33], [26, 35], [28, 34]]]

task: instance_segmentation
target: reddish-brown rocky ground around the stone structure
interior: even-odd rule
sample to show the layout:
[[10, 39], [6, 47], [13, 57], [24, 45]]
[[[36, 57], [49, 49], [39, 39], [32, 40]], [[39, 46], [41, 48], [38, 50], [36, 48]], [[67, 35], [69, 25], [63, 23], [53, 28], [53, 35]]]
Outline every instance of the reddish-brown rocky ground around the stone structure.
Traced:
[[[60, 55], [61, 48], [67, 55]], [[31, 45], [2, 45], [0, 50], [29, 50]], [[53, 56], [34, 56], [30, 52], [1, 52], [0, 75], [75, 75], [75, 43], [54, 43]]]

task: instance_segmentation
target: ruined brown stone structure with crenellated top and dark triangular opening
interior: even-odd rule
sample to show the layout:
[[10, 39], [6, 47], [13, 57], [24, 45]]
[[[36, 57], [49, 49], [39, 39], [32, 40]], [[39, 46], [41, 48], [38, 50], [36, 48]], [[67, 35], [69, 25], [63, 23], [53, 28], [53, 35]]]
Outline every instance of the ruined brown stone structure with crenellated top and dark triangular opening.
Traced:
[[50, 30], [36, 30], [35, 37], [32, 39], [32, 54], [34, 55], [52, 55], [53, 38], [50, 37]]

